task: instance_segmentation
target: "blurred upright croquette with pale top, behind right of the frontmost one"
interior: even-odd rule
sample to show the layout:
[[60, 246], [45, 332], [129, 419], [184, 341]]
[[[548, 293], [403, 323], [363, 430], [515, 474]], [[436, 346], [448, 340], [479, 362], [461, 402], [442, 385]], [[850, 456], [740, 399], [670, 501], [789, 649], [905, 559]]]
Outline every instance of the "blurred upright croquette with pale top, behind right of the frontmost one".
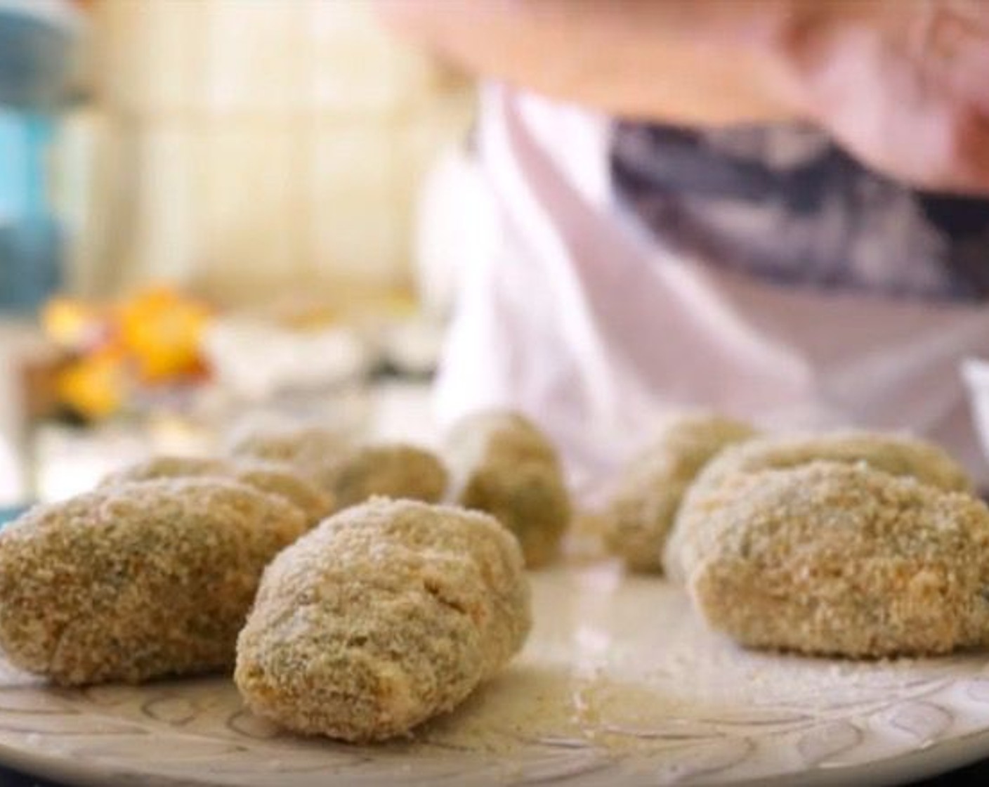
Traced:
[[510, 530], [525, 564], [544, 565], [560, 551], [572, 506], [553, 443], [524, 416], [484, 411], [462, 419], [446, 440], [454, 498]]

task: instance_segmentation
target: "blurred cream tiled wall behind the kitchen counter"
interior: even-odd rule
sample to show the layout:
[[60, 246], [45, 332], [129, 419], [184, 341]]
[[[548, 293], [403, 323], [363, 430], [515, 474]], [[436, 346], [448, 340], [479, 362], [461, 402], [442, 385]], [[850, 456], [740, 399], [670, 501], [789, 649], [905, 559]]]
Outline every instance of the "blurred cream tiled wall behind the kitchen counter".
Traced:
[[466, 80], [366, 0], [103, 0], [96, 32], [98, 105], [75, 133], [114, 130], [115, 174], [93, 178], [81, 212], [111, 220], [80, 220], [104, 237], [76, 246], [76, 280], [231, 302], [407, 282], [418, 181], [469, 123]]

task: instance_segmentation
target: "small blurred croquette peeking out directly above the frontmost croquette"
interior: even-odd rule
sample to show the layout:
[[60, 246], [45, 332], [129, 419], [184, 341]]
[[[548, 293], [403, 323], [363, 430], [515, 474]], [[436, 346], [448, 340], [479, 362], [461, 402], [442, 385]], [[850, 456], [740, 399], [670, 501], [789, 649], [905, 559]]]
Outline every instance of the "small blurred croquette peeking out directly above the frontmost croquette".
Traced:
[[376, 496], [437, 503], [449, 478], [430, 451], [405, 443], [380, 443], [345, 452], [326, 467], [322, 480], [337, 506], [346, 508]]

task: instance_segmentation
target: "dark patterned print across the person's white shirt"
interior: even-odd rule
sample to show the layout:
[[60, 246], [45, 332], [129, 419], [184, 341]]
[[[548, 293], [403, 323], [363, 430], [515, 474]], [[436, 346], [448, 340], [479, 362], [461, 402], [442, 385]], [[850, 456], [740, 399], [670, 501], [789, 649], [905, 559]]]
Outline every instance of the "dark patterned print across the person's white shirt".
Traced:
[[776, 284], [989, 297], [989, 199], [914, 191], [806, 127], [618, 124], [616, 191], [664, 245]]

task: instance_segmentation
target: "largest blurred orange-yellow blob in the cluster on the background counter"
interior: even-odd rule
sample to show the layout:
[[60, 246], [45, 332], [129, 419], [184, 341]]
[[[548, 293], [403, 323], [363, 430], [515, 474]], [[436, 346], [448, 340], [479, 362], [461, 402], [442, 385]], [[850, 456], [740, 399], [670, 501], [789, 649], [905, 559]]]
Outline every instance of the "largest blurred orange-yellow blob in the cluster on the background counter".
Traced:
[[168, 287], [137, 294], [119, 310], [121, 343], [148, 382], [202, 372], [199, 344], [209, 307]]

